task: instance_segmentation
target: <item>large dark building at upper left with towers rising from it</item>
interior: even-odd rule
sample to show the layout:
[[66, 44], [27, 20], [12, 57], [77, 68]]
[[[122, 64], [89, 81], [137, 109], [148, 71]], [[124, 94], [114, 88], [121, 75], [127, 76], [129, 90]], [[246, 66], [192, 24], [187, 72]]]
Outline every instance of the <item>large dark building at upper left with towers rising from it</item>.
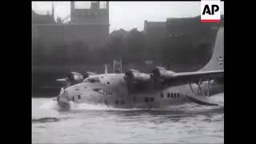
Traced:
[[[70, 2], [70, 15], [63, 19], [58, 17], [57, 22], [54, 21], [54, 5], [51, 14], [36, 14], [32, 10], [32, 49], [35, 53], [43, 54], [42, 62], [56, 57], [51, 54], [61, 54], [54, 52], [58, 49], [57, 47], [72, 48], [79, 44], [81, 47], [94, 49], [106, 45], [110, 26], [109, 2], [87, 4], [88, 8], [78, 9], [75, 7], [75, 2]], [[70, 54], [72, 50], [69, 49], [65, 53]], [[40, 58], [38, 55], [34, 56], [35, 61]]]

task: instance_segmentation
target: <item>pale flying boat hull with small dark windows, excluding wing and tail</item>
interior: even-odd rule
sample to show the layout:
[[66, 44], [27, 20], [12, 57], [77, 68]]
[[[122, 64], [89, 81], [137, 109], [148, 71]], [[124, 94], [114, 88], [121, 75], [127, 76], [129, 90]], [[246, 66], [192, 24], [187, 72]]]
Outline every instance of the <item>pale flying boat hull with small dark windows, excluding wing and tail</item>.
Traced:
[[[194, 90], [191, 90], [191, 87]], [[134, 87], [130, 89], [124, 79], [124, 74], [98, 74], [86, 78], [82, 83], [66, 88], [59, 96], [60, 106], [65, 102], [105, 104], [120, 108], [155, 108], [179, 105], [190, 102], [188, 95], [206, 95], [206, 82], [202, 83], [203, 93], [198, 92], [196, 84], [168, 86], [163, 89]], [[223, 92], [224, 85], [210, 82], [210, 93]]]

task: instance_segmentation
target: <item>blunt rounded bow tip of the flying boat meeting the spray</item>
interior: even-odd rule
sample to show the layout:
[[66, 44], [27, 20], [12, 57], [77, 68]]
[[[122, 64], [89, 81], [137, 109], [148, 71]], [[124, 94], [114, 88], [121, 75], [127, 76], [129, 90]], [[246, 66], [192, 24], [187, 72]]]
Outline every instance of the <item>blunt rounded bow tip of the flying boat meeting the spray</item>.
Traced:
[[68, 98], [68, 93], [62, 88], [60, 94], [57, 97], [58, 106], [61, 110], [70, 110], [70, 102]]

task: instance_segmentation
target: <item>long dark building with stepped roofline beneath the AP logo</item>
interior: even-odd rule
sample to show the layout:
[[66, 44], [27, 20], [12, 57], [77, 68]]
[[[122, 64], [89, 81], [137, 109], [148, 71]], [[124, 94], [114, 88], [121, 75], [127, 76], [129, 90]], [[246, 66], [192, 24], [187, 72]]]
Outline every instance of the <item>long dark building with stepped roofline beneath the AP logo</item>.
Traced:
[[[218, 29], [216, 23], [202, 23], [200, 16], [194, 18], [166, 18], [166, 22], [144, 21], [144, 34], [151, 44], [159, 43], [166, 38], [182, 37], [194, 39], [209, 39], [211, 31]], [[214, 34], [215, 34], [214, 30]], [[212, 39], [209, 39], [212, 40]]]

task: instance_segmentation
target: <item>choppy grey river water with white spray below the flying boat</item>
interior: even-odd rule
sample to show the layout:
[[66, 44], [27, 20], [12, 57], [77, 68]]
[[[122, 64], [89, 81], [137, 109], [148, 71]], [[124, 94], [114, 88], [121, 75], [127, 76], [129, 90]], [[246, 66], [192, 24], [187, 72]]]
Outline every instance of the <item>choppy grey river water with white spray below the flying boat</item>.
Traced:
[[32, 98], [33, 143], [223, 143], [224, 106], [184, 104], [169, 110], [72, 105]]

